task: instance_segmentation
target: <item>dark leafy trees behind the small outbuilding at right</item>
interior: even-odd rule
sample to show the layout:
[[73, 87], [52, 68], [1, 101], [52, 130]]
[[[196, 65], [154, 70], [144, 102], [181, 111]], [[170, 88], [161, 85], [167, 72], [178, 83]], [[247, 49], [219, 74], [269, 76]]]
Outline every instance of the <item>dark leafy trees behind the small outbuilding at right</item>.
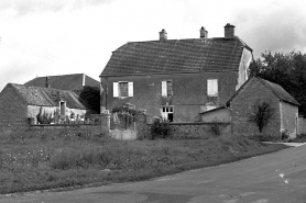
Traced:
[[263, 53], [251, 63], [250, 76], [282, 86], [299, 102], [299, 113], [306, 116], [306, 54]]

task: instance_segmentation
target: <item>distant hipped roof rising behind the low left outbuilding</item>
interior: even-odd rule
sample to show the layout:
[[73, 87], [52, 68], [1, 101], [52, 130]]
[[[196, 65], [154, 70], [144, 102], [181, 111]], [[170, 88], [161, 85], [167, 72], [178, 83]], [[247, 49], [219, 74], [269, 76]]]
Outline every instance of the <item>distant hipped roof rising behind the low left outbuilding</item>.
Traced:
[[80, 90], [84, 86], [100, 87], [100, 82], [85, 74], [73, 74], [62, 76], [37, 77], [24, 83], [24, 86], [46, 87], [46, 77], [51, 88], [59, 90]]

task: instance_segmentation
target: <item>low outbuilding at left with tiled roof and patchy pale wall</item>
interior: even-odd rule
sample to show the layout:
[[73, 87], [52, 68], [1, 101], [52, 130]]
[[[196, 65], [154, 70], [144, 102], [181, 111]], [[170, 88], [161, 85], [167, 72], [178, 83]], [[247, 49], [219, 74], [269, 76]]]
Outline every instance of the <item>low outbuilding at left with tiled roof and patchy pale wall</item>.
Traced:
[[73, 91], [8, 83], [0, 93], [0, 131], [26, 127], [30, 120], [37, 123], [37, 115], [52, 122], [81, 120], [87, 111]]

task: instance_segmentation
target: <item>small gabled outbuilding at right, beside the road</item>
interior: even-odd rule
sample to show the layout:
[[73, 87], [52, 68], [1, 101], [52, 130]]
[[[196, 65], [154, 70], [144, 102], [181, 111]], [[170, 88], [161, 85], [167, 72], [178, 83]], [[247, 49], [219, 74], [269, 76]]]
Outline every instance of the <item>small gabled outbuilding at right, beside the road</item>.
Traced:
[[281, 86], [262, 78], [250, 78], [227, 102], [231, 109], [233, 134], [259, 134], [259, 127], [250, 121], [254, 106], [267, 102], [273, 109], [273, 115], [263, 134], [280, 138], [282, 132], [289, 132], [295, 137], [297, 132], [299, 103]]

